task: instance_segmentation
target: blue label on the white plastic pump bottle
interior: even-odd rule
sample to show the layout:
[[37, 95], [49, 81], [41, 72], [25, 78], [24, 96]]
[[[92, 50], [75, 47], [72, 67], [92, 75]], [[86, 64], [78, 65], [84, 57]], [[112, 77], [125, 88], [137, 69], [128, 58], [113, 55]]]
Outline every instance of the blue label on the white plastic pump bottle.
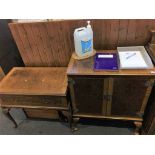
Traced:
[[90, 52], [92, 49], [92, 40], [81, 41], [82, 53]]

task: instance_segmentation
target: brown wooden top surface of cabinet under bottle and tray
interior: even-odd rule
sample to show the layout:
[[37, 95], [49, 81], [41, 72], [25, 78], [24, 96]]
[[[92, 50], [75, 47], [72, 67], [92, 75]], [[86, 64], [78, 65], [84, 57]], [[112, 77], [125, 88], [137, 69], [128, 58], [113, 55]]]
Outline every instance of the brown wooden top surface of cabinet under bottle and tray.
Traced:
[[[116, 50], [100, 50], [99, 52], [116, 52]], [[154, 76], [153, 69], [126, 69], [118, 71], [94, 71], [94, 56], [83, 60], [70, 59], [67, 75], [105, 75], [105, 76]]]

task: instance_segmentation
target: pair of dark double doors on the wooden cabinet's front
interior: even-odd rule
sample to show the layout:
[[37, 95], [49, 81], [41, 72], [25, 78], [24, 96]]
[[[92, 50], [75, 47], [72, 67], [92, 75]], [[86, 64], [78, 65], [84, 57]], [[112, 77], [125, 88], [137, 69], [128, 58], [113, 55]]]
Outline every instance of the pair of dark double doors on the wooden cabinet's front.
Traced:
[[76, 113], [142, 117], [152, 82], [147, 78], [72, 78]]

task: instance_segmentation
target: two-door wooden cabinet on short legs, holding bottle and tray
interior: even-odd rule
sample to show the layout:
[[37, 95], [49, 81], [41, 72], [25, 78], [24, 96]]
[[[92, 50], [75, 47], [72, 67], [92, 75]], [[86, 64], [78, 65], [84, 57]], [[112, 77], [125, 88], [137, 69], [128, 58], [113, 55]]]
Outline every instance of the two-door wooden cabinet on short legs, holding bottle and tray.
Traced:
[[113, 119], [133, 121], [138, 134], [154, 85], [155, 68], [94, 71], [93, 65], [94, 57], [84, 60], [72, 57], [67, 69], [74, 129], [80, 118]]

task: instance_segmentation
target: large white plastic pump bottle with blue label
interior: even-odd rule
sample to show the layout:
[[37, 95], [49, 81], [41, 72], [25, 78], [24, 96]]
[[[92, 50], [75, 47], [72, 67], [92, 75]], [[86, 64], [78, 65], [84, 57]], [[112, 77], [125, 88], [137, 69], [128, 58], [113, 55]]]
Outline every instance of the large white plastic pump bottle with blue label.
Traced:
[[87, 27], [81, 27], [74, 31], [75, 52], [78, 57], [92, 55], [93, 53], [93, 31], [90, 21]]

